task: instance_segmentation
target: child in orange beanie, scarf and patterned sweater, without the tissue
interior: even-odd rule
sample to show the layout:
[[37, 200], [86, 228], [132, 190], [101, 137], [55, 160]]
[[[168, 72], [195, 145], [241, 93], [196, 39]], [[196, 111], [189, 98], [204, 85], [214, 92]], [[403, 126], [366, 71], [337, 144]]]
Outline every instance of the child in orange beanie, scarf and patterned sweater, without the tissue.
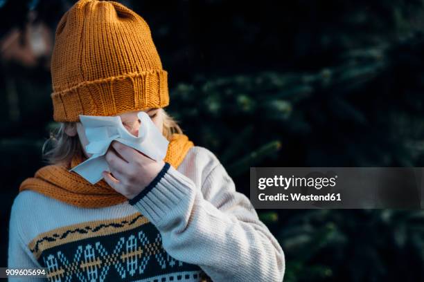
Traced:
[[[283, 250], [249, 199], [166, 115], [167, 73], [139, 15], [78, 1], [58, 24], [51, 73], [62, 127], [53, 164], [13, 203], [9, 268], [45, 267], [48, 281], [283, 280]], [[119, 115], [137, 135], [139, 111], [170, 142], [163, 161], [115, 141], [100, 182], [69, 171], [90, 156], [79, 115]]]

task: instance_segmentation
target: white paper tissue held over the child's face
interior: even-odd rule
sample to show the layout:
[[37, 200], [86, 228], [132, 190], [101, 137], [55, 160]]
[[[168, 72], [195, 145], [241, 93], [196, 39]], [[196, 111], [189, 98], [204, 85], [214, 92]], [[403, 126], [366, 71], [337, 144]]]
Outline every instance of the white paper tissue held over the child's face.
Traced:
[[163, 160], [168, 149], [168, 140], [147, 113], [141, 111], [137, 116], [141, 121], [138, 137], [125, 129], [119, 116], [80, 115], [80, 122], [89, 141], [85, 150], [92, 156], [69, 171], [75, 171], [91, 184], [100, 181], [103, 178], [102, 172], [110, 171], [105, 153], [114, 140], [144, 153], [153, 160]]

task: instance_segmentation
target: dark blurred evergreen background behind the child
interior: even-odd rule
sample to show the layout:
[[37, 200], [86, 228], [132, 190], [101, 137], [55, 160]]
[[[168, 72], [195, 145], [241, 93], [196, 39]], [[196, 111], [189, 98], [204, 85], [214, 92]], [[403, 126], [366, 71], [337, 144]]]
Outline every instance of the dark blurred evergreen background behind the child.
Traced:
[[[74, 2], [0, 0], [3, 267], [12, 200], [57, 125], [49, 60]], [[247, 196], [254, 166], [424, 167], [424, 1], [121, 2], [150, 25], [168, 112]], [[285, 281], [424, 281], [422, 210], [258, 214]]]

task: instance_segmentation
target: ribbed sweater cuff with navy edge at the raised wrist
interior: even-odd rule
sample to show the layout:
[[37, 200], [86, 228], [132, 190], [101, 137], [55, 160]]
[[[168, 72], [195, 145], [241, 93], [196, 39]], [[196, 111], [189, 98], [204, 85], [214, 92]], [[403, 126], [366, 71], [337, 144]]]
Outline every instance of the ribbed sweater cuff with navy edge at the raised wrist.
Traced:
[[165, 217], [172, 218], [184, 214], [186, 212], [184, 203], [193, 198], [194, 191], [191, 179], [166, 162], [150, 185], [129, 203], [158, 227]]

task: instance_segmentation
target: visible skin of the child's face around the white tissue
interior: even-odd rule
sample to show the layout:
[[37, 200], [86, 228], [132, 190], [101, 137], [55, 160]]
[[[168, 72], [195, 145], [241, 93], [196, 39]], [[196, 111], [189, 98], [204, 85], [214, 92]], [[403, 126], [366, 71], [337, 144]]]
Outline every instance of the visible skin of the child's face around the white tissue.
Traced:
[[[137, 117], [138, 112], [139, 111], [131, 111], [127, 113], [121, 113], [121, 115], [117, 115], [121, 117], [123, 126], [125, 126], [127, 131], [134, 136], [139, 135], [140, 120], [139, 120], [139, 117]], [[157, 128], [159, 129], [159, 132], [163, 132], [164, 115], [162, 114], [163, 112], [161, 111], [161, 109], [157, 109], [157, 108], [146, 109], [144, 112], [150, 116], [154, 125], [156, 125]], [[87, 146], [89, 142], [87, 140], [87, 136], [85, 135], [84, 127], [82, 126], [81, 122], [76, 122], [76, 128], [68, 129], [66, 133], [71, 136], [76, 135], [78, 133], [85, 156], [87, 156], [87, 158], [90, 158], [91, 154], [85, 151], [85, 147]]]

